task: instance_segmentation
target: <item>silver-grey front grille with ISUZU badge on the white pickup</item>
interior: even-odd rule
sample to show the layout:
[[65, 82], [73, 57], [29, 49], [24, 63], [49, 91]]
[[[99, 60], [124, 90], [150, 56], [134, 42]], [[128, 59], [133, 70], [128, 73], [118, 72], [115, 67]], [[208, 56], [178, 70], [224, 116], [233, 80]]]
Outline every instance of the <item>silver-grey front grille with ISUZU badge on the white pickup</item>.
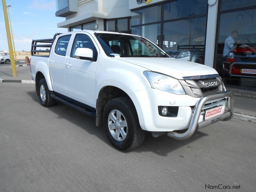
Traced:
[[[200, 98], [204, 95], [223, 92], [224, 85], [220, 76], [208, 79], [179, 80], [187, 95]], [[205, 83], [217, 82], [216, 86], [206, 87]]]

